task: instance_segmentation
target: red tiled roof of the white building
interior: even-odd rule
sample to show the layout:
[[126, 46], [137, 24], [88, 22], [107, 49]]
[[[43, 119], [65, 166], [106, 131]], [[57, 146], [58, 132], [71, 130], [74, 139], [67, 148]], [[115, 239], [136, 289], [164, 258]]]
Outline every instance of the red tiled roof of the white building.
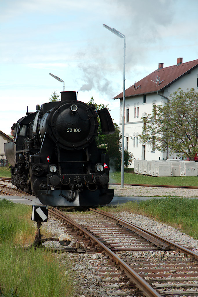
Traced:
[[[159, 66], [163, 66], [163, 64], [161, 64], [162, 63], [160, 63]], [[181, 63], [179, 65], [176, 64], [170, 67], [161, 68], [159, 70], [157, 69], [151, 74], [147, 75], [145, 78], [142, 78], [137, 83], [135, 83], [135, 86], [133, 85], [126, 89], [125, 97], [163, 91], [164, 88], [174, 83], [176, 80], [178, 80], [197, 66], [198, 59], [186, 63]], [[113, 99], [122, 97], [123, 92], [115, 96]]]

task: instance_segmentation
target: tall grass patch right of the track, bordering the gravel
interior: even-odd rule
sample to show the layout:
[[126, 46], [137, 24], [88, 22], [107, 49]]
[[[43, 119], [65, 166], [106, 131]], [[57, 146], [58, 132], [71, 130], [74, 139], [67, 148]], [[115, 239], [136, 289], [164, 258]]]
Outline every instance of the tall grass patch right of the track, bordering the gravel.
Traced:
[[114, 209], [104, 207], [104, 210], [121, 212], [127, 211], [142, 214], [157, 221], [178, 228], [189, 236], [198, 239], [198, 200], [178, 197], [129, 201]]

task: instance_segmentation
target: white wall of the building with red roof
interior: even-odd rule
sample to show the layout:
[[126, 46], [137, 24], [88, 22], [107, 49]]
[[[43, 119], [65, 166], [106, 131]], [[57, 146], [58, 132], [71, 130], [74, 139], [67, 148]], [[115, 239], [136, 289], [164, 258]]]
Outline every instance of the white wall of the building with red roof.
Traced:
[[[198, 67], [186, 74], [175, 83], [164, 90], [163, 95], [169, 97], [170, 94], [177, 91], [180, 87], [183, 91], [186, 89], [197, 89]], [[152, 151], [152, 148], [140, 142], [139, 135], [142, 133], [143, 121], [141, 118], [145, 113], [153, 113], [153, 103], [156, 105], [164, 105], [167, 99], [158, 95], [157, 93], [146, 94], [146, 102], [144, 102], [144, 95], [125, 98], [125, 128], [124, 128], [124, 148], [131, 152], [136, 160], [159, 160], [178, 158], [177, 154], [170, 155], [169, 151], [160, 152], [158, 150]], [[128, 112], [129, 114], [128, 114]], [[127, 122], [128, 119], [128, 122]], [[120, 130], [122, 133], [122, 99], [120, 100]], [[132, 165], [133, 167], [133, 165]]]

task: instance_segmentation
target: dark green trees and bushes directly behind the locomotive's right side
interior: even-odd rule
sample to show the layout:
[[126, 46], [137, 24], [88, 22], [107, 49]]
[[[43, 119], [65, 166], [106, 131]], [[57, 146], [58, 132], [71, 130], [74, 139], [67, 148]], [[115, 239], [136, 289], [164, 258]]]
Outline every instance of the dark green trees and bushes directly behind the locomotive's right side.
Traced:
[[[90, 101], [87, 103], [94, 104], [96, 111], [102, 108], [107, 108], [108, 105], [104, 104], [96, 104], [94, 103], [93, 97], [91, 97]], [[108, 108], [107, 108], [108, 109]], [[109, 155], [109, 162], [110, 166], [115, 170], [121, 170], [121, 134], [118, 124], [114, 124], [115, 133], [114, 134], [102, 134], [101, 123], [98, 117], [99, 127], [98, 131], [99, 134], [96, 137], [96, 144], [99, 148], [106, 149], [107, 154]], [[133, 155], [128, 151], [124, 151], [124, 165], [128, 167], [132, 164]]]

